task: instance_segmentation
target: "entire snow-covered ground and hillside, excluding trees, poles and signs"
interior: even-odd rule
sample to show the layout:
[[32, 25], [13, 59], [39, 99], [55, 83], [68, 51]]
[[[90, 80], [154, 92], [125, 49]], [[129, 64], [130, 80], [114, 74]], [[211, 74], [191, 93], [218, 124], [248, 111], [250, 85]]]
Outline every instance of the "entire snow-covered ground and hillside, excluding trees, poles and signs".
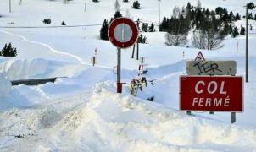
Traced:
[[[162, 0], [161, 16], [170, 16], [175, 5], [187, 0]], [[247, 0], [201, 0], [205, 8], [218, 6], [244, 14]], [[86, 3], [86, 12], [85, 10]], [[158, 1], [120, 1], [121, 13], [133, 19], [158, 22]], [[196, 5], [197, 0], [191, 3]], [[256, 2], [254, 2], [256, 3]], [[98, 39], [103, 19], [114, 14], [114, 0], [8, 0], [0, 2], [0, 46], [12, 42], [17, 57], [0, 57], [0, 151], [255, 151], [256, 150], [256, 22], [249, 36], [249, 83], [244, 84], [244, 111], [231, 124], [231, 113], [179, 111], [179, 77], [186, 61], [200, 50], [164, 45], [164, 33], [144, 33], [140, 45], [147, 79], [153, 84], [136, 97], [128, 85], [116, 94], [116, 48]], [[252, 11], [256, 13], [255, 10]], [[3, 28], [53, 25], [64, 20], [69, 28]], [[236, 23], [238, 27], [244, 20]], [[97, 64], [91, 57], [97, 49]], [[122, 50], [122, 82], [136, 77], [139, 61], [132, 48]], [[184, 52], [184, 54], [183, 54]], [[237, 75], [245, 75], [245, 37], [225, 38], [225, 46], [204, 51], [209, 60], [235, 60]], [[10, 87], [9, 80], [59, 77], [55, 83]], [[154, 101], [146, 99], [154, 96]]]

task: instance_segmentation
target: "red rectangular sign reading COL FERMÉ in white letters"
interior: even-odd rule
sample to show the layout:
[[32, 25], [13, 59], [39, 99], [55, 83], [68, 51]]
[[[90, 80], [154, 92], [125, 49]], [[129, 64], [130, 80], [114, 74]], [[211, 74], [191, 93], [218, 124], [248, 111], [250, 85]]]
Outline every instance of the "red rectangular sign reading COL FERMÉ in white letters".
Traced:
[[242, 77], [181, 76], [180, 109], [242, 112]]

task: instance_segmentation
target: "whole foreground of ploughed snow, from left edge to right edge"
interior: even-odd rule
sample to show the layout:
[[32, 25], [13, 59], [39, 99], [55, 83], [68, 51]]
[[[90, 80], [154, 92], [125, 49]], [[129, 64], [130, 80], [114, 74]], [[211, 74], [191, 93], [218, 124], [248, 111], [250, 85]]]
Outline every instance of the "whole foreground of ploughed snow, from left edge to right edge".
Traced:
[[[256, 130], [114, 93], [106, 81], [92, 93], [67, 95], [35, 109], [0, 114], [3, 150], [249, 151]], [[8, 136], [6, 136], [8, 134]], [[25, 137], [18, 140], [17, 136]], [[40, 138], [38, 138], [40, 136]], [[1, 136], [0, 136], [1, 137]], [[14, 138], [11, 138], [14, 137]], [[1, 138], [0, 138], [1, 141]], [[36, 144], [35, 144], [36, 141]], [[22, 145], [22, 146], [20, 146]], [[1, 145], [0, 145], [1, 149]]]

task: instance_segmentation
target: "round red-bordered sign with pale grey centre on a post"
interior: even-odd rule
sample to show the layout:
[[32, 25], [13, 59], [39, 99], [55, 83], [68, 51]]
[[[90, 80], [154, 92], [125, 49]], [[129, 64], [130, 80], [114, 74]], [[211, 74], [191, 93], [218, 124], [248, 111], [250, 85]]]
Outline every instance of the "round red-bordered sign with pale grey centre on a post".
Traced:
[[138, 34], [136, 24], [128, 18], [114, 19], [109, 25], [109, 40], [119, 48], [132, 46], [136, 42]]

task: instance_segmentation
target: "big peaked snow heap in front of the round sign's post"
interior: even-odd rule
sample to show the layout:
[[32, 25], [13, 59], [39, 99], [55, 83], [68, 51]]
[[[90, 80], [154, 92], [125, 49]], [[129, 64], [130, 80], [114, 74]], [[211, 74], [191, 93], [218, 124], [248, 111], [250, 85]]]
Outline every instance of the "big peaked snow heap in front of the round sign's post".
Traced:
[[[69, 151], [214, 151], [256, 149], [256, 130], [200, 117], [113, 93], [98, 84], [86, 105], [53, 127], [51, 149]], [[56, 142], [58, 141], [58, 142]], [[76, 142], [75, 142], [76, 141]], [[79, 142], [77, 142], [79, 141]], [[74, 143], [70, 146], [65, 146]], [[240, 144], [237, 144], [240, 143]], [[44, 144], [49, 145], [49, 144]]]

